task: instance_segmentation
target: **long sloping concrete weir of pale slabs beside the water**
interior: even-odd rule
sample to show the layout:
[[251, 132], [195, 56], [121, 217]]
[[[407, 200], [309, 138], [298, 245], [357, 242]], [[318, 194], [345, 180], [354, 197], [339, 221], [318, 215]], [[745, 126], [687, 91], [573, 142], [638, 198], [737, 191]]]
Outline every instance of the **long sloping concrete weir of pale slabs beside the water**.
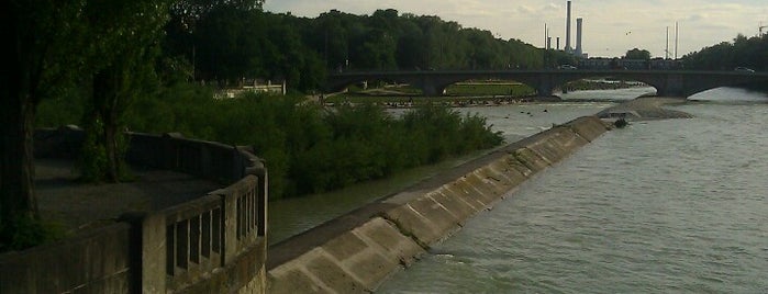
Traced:
[[469, 217], [609, 129], [554, 126], [270, 248], [269, 293], [367, 293]]

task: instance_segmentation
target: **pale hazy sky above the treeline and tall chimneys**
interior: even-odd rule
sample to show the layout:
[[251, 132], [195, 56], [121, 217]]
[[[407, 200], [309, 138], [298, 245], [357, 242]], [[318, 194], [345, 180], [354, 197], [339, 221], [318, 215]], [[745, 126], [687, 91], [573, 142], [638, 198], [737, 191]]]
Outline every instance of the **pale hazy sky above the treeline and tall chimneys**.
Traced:
[[[264, 9], [275, 13], [315, 18], [336, 9], [353, 14], [372, 14], [394, 9], [415, 15], [437, 15], [463, 27], [491, 31], [497, 37], [516, 38], [536, 47], [545, 46], [544, 26], [565, 47], [566, 0], [266, 0]], [[667, 31], [669, 56], [701, 50], [737, 34], [756, 36], [768, 25], [767, 0], [572, 0], [571, 47], [576, 47], [576, 19], [583, 18], [583, 52], [590, 57], [620, 57], [633, 48], [647, 49], [652, 57], [665, 57]], [[763, 30], [768, 33], [768, 27]]]

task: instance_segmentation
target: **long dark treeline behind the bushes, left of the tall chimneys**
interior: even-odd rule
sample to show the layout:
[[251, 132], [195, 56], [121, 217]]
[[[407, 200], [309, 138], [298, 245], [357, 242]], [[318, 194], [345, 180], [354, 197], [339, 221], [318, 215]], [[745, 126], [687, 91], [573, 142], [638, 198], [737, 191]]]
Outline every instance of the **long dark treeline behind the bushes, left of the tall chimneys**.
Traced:
[[285, 79], [292, 89], [310, 91], [322, 89], [329, 71], [542, 68], [574, 61], [561, 52], [545, 54], [489, 31], [392, 9], [371, 15], [331, 10], [314, 19], [238, 5], [193, 15], [185, 11], [171, 11], [165, 55], [193, 65], [196, 80], [220, 86]]

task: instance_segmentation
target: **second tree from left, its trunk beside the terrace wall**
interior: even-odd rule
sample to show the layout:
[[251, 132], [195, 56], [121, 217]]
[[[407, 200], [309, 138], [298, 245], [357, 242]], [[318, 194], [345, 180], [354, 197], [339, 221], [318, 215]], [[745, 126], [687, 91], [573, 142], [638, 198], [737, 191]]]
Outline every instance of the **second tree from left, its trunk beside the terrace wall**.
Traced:
[[156, 83], [155, 58], [168, 1], [91, 0], [86, 10], [94, 61], [91, 103], [82, 120], [82, 178], [119, 182], [126, 150], [122, 116], [137, 94]]

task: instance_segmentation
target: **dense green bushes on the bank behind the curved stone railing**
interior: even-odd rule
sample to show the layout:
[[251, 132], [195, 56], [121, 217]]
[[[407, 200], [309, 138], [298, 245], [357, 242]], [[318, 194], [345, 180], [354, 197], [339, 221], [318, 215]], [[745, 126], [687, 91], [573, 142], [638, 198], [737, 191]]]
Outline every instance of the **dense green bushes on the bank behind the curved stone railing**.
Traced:
[[[245, 93], [213, 100], [212, 93], [178, 84], [159, 99], [140, 98], [125, 116], [126, 126], [251, 145], [267, 160], [271, 199], [338, 189], [502, 143], [485, 118], [428, 103], [393, 117], [370, 103], [325, 110], [304, 103], [301, 95]], [[62, 112], [76, 113], [77, 105], [55, 109], [48, 103], [56, 101], [41, 105], [41, 122], [77, 120], [56, 121]]]

